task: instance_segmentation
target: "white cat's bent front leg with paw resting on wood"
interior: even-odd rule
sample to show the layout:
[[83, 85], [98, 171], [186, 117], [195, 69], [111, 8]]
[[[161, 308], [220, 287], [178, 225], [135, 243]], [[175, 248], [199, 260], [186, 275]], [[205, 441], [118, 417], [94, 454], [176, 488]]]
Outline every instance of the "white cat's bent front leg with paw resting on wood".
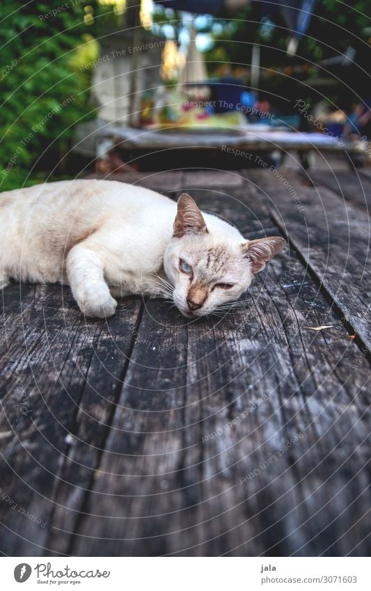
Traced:
[[111, 297], [104, 281], [104, 263], [100, 256], [84, 243], [68, 253], [66, 261], [68, 283], [84, 315], [106, 318], [115, 313], [117, 301]]

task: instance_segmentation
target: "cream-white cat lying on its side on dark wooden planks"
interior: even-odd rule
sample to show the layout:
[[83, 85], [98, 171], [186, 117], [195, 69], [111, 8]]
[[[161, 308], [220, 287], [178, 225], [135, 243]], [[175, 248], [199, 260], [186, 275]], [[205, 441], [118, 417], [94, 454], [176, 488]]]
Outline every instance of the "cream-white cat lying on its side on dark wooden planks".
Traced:
[[165, 297], [186, 317], [226, 310], [285, 246], [245, 239], [230, 223], [116, 181], [72, 180], [0, 194], [0, 289], [10, 278], [68, 283], [88, 317], [116, 297]]

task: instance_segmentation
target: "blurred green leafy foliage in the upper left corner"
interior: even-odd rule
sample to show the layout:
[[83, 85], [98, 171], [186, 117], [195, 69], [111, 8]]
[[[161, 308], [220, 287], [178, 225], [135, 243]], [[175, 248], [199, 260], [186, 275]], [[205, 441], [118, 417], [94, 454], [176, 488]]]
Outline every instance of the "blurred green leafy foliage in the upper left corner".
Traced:
[[58, 162], [72, 126], [91, 109], [91, 74], [79, 68], [84, 57], [90, 59], [79, 46], [91, 27], [84, 3], [61, 6], [60, 0], [0, 3], [1, 190], [40, 181], [40, 157], [47, 150]]

